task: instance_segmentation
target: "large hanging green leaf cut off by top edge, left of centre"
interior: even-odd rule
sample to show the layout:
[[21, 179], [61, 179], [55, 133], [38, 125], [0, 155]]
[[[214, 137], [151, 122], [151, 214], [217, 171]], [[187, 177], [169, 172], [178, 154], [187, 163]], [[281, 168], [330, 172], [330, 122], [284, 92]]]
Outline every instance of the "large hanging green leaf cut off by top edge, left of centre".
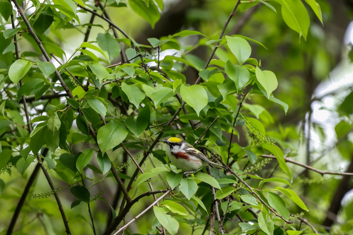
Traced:
[[155, 2], [150, 0], [147, 5], [141, 0], [128, 0], [128, 2], [132, 11], [147, 20], [151, 24], [152, 29], [154, 29], [155, 24], [161, 18]]

